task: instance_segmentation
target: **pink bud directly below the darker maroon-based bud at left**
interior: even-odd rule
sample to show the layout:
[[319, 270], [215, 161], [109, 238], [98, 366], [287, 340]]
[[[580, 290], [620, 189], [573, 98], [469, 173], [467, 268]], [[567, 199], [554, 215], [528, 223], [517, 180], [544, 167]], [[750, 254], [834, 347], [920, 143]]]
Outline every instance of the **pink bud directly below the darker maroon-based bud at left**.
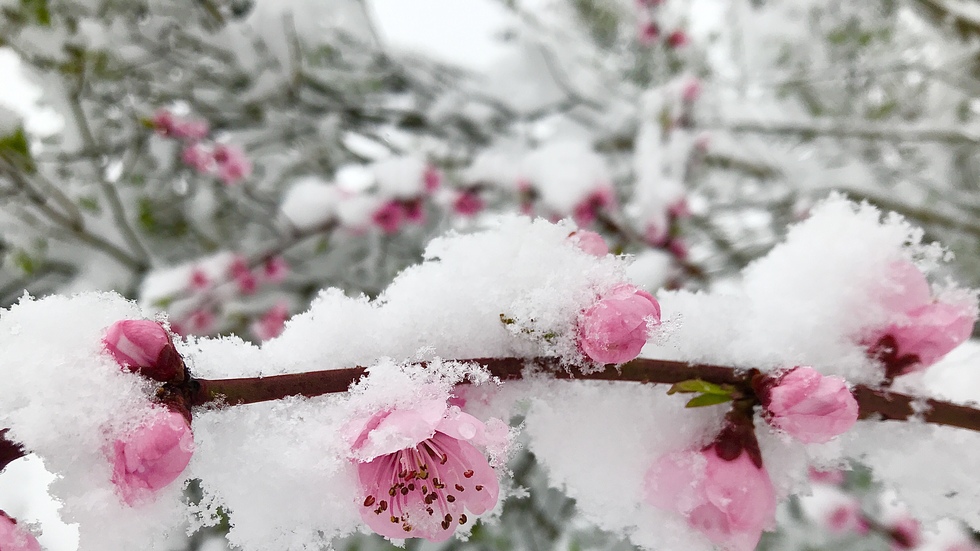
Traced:
[[154, 407], [151, 416], [112, 446], [112, 482], [123, 501], [138, 505], [180, 476], [194, 453], [183, 415]]

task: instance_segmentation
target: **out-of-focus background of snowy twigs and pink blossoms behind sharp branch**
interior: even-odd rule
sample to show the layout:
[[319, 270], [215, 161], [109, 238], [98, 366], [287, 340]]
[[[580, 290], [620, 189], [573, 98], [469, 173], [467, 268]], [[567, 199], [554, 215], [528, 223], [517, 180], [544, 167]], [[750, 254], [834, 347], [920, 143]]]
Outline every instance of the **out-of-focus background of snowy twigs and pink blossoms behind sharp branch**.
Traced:
[[[976, 287], [978, 116], [971, 0], [0, 0], [0, 306], [112, 289], [260, 342], [501, 213], [573, 218], [651, 291], [719, 288], [832, 191]], [[408, 546], [629, 547], [511, 468], [499, 523]], [[978, 549], [860, 466], [814, 476], [760, 548]], [[71, 550], [49, 477], [11, 465], [0, 507]]]

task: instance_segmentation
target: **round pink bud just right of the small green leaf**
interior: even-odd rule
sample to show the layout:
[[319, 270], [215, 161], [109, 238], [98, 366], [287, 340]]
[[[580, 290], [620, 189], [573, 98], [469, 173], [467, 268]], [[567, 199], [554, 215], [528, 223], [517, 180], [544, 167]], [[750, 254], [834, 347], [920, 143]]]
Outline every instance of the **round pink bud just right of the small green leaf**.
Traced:
[[857, 400], [840, 377], [795, 367], [756, 385], [766, 420], [807, 444], [827, 442], [857, 422]]

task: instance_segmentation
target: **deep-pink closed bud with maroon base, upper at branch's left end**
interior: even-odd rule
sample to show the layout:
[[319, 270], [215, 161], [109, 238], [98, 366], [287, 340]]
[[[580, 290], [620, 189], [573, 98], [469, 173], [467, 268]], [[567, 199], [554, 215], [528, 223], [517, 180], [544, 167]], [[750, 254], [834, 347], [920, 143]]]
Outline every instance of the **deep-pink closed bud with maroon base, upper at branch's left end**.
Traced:
[[184, 374], [184, 362], [170, 334], [155, 321], [117, 321], [109, 326], [102, 344], [119, 365], [144, 377], [168, 382]]

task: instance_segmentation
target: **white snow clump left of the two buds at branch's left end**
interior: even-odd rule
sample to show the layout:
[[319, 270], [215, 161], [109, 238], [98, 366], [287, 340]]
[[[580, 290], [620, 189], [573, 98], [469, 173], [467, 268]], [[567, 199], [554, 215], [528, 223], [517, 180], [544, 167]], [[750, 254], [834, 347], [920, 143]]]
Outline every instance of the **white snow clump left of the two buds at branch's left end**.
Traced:
[[0, 427], [59, 473], [50, 491], [79, 524], [81, 549], [158, 549], [184, 516], [180, 483], [129, 507], [111, 481], [107, 450], [146, 417], [152, 388], [103, 352], [102, 336], [140, 317], [113, 293], [25, 297], [0, 311]]

